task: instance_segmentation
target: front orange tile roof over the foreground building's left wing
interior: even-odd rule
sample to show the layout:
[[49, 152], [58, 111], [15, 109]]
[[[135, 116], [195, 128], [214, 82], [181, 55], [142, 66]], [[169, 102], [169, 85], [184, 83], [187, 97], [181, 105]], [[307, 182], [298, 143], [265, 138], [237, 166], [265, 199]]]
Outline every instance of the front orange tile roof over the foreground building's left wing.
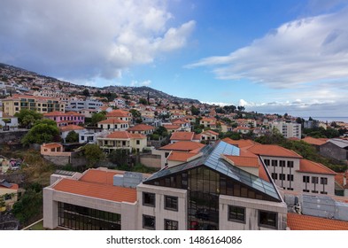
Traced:
[[84, 182], [63, 178], [55, 186], [54, 190], [81, 195], [90, 198], [101, 198], [115, 202], [136, 201], [136, 189], [112, 186], [98, 182]]

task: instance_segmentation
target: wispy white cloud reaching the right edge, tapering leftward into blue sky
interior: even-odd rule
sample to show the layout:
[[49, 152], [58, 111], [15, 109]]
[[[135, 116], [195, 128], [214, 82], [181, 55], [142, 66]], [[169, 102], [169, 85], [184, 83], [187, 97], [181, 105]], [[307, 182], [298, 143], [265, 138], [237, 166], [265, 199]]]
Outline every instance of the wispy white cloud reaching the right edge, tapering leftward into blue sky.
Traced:
[[187, 67], [213, 66], [219, 79], [290, 89], [313, 81], [348, 78], [348, 9], [283, 24], [227, 56]]

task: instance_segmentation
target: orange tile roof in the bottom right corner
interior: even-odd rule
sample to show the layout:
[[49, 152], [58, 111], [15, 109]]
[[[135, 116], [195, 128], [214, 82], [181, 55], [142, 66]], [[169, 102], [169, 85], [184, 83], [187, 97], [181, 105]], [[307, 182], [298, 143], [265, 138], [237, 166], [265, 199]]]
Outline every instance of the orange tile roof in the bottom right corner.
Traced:
[[348, 221], [329, 220], [320, 217], [288, 213], [291, 230], [348, 230]]

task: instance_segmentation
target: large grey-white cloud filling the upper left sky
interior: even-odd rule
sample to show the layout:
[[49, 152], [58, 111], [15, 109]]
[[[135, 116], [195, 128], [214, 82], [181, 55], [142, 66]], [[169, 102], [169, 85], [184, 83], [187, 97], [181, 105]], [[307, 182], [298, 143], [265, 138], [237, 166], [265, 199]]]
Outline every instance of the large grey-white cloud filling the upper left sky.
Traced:
[[195, 27], [168, 27], [160, 0], [12, 0], [0, 16], [0, 61], [66, 79], [120, 77], [181, 49]]

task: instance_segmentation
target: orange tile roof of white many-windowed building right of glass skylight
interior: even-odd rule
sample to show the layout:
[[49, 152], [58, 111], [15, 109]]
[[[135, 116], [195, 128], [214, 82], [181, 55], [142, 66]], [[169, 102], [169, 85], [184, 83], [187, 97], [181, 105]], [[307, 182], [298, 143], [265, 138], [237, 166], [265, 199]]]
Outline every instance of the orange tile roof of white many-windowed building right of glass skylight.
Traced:
[[298, 155], [295, 151], [285, 149], [276, 144], [255, 144], [251, 146], [251, 148], [248, 148], [248, 151], [257, 155], [270, 157], [302, 158], [302, 156]]

